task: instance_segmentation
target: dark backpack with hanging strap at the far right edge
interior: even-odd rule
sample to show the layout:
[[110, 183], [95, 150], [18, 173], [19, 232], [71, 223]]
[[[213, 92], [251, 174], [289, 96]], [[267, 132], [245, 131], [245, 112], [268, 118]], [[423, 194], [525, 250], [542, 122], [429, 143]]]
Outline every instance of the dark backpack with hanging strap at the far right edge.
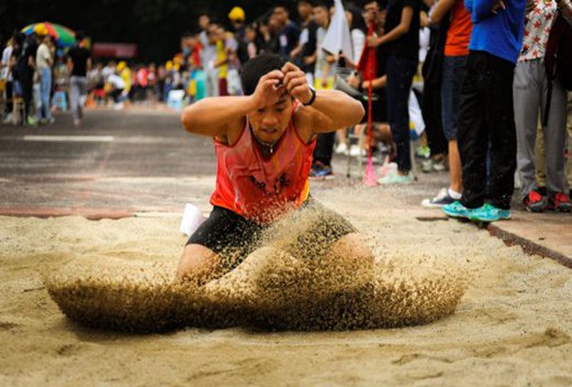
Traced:
[[547, 109], [545, 112], [542, 124], [548, 124], [548, 117], [550, 113], [550, 102], [552, 99], [552, 82], [559, 79], [562, 87], [572, 91], [572, 26], [568, 24], [562, 14], [558, 14], [550, 36], [548, 37], [545, 67], [548, 78], [548, 96]]

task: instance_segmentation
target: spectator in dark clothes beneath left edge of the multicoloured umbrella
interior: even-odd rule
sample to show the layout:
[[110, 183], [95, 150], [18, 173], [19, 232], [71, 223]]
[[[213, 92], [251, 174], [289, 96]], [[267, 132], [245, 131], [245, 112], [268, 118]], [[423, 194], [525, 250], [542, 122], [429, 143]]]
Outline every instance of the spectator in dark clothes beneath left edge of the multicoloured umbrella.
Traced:
[[47, 29], [43, 24], [36, 24], [34, 32], [27, 35], [22, 47], [22, 54], [18, 58], [15, 65], [15, 78], [22, 87], [22, 97], [24, 99], [24, 120], [30, 125], [37, 123], [36, 119], [31, 114], [34, 73], [36, 64], [36, 52], [38, 41], [47, 34]]

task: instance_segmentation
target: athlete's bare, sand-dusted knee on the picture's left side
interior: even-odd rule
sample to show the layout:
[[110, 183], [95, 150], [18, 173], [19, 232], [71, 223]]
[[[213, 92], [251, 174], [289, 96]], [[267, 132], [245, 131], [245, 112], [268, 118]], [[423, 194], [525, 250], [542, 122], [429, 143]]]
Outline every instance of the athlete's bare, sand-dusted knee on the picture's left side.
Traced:
[[188, 244], [179, 261], [176, 280], [203, 285], [222, 277], [226, 272], [221, 257], [212, 250], [200, 244]]

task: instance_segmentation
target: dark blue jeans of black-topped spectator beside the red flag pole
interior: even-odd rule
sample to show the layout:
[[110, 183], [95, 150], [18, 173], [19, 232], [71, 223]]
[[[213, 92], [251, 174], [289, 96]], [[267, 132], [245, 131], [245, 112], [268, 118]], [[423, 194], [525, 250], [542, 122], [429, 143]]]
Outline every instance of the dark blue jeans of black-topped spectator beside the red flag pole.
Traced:
[[397, 148], [397, 168], [411, 170], [410, 90], [417, 68], [414, 58], [388, 56], [388, 115]]

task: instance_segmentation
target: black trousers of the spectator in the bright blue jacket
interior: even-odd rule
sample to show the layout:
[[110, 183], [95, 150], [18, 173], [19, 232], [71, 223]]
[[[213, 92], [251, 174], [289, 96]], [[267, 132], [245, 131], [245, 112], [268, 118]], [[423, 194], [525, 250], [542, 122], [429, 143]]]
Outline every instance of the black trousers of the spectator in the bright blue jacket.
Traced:
[[[516, 129], [513, 110], [515, 65], [485, 52], [472, 51], [461, 89], [458, 141], [467, 208], [485, 201], [511, 208], [516, 168]], [[490, 150], [489, 150], [490, 144]], [[486, 154], [491, 155], [486, 176]]]

